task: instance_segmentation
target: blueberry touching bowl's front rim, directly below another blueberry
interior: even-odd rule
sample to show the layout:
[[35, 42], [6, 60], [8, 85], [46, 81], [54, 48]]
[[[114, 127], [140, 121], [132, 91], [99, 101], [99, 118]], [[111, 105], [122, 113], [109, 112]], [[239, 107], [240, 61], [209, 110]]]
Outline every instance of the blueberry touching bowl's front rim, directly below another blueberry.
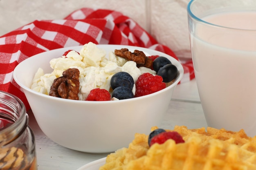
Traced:
[[129, 88], [124, 86], [119, 86], [113, 90], [112, 97], [115, 97], [119, 100], [130, 99], [130, 98], [133, 98], [133, 93], [132, 93], [132, 90], [130, 90]]

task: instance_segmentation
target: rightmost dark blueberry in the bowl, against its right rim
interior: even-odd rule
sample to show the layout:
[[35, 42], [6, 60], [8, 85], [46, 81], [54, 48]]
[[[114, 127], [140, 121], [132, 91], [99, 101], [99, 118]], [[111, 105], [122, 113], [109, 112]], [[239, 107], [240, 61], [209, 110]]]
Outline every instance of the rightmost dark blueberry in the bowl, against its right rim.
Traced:
[[168, 83], [171, 82], [178, 74], [178, 69], [173, 64], [166, 64], [161, 67], [157, 72], [157, 75], [160, 75], [163, 78], [163, 82]]

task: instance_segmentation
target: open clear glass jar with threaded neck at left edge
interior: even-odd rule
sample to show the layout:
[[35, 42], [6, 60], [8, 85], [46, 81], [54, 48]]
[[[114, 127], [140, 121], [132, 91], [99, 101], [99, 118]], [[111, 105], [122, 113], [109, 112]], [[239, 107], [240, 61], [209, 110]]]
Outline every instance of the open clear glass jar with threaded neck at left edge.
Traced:
[[22, 101], [0, 91], [0, 170], [37, 170], [34, 134]]

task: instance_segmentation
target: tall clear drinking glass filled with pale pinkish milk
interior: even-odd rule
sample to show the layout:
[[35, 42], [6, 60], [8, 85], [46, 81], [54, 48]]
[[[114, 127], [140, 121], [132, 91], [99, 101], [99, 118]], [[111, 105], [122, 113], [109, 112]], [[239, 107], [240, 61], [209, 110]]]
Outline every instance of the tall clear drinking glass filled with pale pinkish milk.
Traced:
[[256, 1], [191, 0], [195, 79], [208, 126], [256, 135]]

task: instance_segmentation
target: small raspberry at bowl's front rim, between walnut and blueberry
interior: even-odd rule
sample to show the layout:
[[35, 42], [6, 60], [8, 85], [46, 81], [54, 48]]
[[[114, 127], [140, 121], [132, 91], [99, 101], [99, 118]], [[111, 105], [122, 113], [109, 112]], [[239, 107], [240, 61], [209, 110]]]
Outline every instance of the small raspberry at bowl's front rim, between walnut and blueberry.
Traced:
[[86, 101], [109, 101], [110, 93], [106, 89], [94, 88], [90, 91]]

